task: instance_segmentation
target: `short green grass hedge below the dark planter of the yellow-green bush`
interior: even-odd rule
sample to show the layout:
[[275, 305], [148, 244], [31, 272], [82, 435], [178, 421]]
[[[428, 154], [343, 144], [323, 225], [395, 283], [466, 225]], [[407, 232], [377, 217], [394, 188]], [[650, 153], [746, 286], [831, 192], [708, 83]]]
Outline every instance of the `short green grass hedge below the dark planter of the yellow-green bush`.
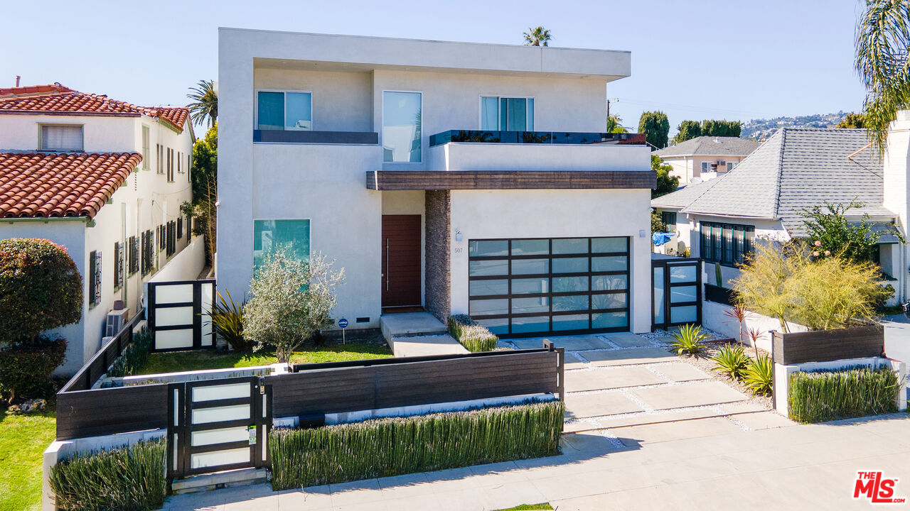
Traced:
[[888, 367], [794, 373], [787, 404], [790, 418], [824, 422], [897, 411], [897, 376]]

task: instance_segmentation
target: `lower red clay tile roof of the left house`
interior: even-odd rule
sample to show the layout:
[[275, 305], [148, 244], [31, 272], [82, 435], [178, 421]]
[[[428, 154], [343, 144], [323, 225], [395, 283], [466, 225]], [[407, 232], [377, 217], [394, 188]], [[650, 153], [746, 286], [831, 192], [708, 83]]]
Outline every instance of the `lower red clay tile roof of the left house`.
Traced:
[[0, 153], [0, 217], [97, 215], [138, 153]]

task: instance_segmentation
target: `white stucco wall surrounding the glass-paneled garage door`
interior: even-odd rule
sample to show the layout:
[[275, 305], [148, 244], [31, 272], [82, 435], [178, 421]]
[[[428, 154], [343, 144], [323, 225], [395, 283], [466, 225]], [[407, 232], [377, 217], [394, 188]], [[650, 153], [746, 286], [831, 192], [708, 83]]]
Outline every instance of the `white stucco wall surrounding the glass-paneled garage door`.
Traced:
[[[452, 314], [468, 313], [471, 239], [629, 236], [630, 326], [650, 332], [650, 201], [650, 190], [452, 190]], [[460, 242], [454, 241], [455, 229]]]

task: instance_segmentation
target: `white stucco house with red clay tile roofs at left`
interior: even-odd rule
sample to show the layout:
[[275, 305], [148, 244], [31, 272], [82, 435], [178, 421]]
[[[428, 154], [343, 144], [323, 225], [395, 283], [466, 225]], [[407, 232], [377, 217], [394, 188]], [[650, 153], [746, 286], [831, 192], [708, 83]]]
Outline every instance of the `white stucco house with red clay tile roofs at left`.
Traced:
[[115, 301], [135, 314], [143, 283], [189, 243], [192, 145], [186, 108], [0, 88], [0, 239], [64, 245], [83, 277], [82, 320], [52, 332], [69, 343], [61, 374], [96, 353]]

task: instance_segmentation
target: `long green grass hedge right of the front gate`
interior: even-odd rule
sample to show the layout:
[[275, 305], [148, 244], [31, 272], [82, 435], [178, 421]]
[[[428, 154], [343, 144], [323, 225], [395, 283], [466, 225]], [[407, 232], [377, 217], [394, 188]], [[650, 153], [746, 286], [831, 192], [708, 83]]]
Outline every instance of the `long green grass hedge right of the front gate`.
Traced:
[[272, 488], [343, 483], [560, 453], [561, 401], [389, 417], [268, 436]]

